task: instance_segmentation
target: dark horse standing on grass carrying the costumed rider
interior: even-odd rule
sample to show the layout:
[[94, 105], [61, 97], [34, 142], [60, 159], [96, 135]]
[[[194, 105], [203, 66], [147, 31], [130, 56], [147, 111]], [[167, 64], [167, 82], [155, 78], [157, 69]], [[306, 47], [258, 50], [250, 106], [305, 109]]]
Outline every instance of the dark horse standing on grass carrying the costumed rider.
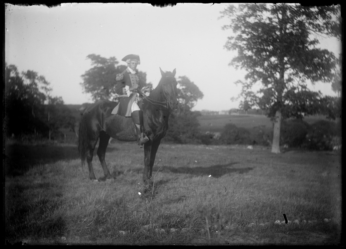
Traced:
[[[161, 139], [166, 135], [170, 113], [178, 105], [177, 82], [174, 78], [175, 69], [173, 73], [165, 73], [161, 70], [161, 75], [162, 78], [157, 87], [152, 90], [149, 97], [142, 100], [143, 131], [149, 138], [149, 141], [144, 144], [143, 181], [147, 181], [152, 176], [157, 148]], [[138, 104], [140, 106], [140, 103]], [[115, 106], [115, 102], [100, 100], [86, 108], [82, 115], [79, 126], [78, 150], [82, 165], [84, 165], [86, 158], [91, 180], [96, 180], [91, 162], [99, 138], [97, 155], [104, 172], [102, 180], [113, 178], [104, 160], [110, 137], [119, 141], [136, 141], [136, 131], [132, 118], [111, 114]]]

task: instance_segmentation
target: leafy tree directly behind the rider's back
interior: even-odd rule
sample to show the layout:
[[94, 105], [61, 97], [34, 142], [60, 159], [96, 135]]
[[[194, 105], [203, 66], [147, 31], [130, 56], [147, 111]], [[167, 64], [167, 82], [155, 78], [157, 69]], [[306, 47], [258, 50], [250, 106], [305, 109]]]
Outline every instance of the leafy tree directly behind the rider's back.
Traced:
[[[109, 59], [100, 55], [91, 54], [86, 56], [91, 60], [93, 66], [81, 76], [83, 82], [80, 83], [85, 93], [90, 93], [93, 100], [111, 99], [118, 101], [119, 95], [116, 91], [116, 75], [122, 73], [127, 66], [119, 65], [115, 57]], [[146, 73], [138, 71], [139, 77], [146, 82]]]

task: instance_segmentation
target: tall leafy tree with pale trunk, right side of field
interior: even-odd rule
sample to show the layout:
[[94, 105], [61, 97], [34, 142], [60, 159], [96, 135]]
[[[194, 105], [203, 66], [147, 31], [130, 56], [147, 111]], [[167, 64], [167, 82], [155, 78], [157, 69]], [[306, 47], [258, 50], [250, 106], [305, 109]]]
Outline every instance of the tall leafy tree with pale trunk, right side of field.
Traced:
[[[282, 119], [325, 111], [320, 92], [307, 88], [307, 81], [336, 79], [336, 57], [317, 48], [317, 35], [340, 36], [340, 6], [304, 7], [298, 4], [239, 4], [221, 12], [235, 36], [225, 48], [237, 56], [231, 66], [246, 70], [240, 97], [252, 99], [274, 121], [272, 152], [280, 153]], [[260, 90], [248, 96], [260, 83]]]

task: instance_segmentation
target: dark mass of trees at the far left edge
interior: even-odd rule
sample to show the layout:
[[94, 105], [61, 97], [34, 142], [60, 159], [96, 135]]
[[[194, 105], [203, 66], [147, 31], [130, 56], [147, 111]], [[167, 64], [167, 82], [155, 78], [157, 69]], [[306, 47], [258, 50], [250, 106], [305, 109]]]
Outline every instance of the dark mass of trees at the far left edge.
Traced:
[[61, 97], [50, 95], [50, 83], [35, 71], [19, 73], [6, 65], [3, 105], [4, 134], [7, 136], [50, 137], [59, 129], [72, 126], [74, 118]]

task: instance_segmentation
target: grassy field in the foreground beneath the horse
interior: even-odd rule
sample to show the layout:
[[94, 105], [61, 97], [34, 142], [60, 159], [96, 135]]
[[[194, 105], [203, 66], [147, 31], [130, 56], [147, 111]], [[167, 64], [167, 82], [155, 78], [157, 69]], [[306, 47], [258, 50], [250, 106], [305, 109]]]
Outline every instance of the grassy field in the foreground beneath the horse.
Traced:
[[154, 189], [136, 143], [109, 145], [116, 179], [104, 182], [88, 179], [74, 144], [7, 143], [6, 155], [9, 243], [343, 245], [339, 154], [163, 143]]

